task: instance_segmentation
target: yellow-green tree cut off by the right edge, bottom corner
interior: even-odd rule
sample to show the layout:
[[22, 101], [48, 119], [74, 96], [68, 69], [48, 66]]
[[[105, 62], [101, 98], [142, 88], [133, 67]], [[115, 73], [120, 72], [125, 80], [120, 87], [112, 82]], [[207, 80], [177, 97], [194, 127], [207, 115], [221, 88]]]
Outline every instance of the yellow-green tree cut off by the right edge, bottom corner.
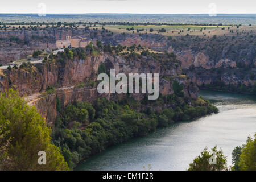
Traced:
[[246, 144], [243, 145], [242, 154], [240, 155], [238, 167], [241, 171], [256, 171], [256, 133], [254, 139], [247, 138]]

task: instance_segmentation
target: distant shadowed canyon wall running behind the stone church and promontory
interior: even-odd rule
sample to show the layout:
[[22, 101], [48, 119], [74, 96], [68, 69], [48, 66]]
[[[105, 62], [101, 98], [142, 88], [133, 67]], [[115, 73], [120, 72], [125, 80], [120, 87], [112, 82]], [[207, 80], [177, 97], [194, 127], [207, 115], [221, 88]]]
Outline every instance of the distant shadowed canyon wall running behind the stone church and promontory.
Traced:
[[[195, 36], [172, 36], [166, 38], [160, 34], [117, 34], [107, 36], [100, 31], [79, 28], [48, 28], [38, 31], [0, 31], [0, 63], [9, 63], [10, 60], [17, 60], [32, 54], [37, 49], [54, 49], [56, 40], [65, 39], [66, 36], [80, 35], [96, 40], [100, 39], [104, 44], [110, 43], [113, 46], [121, 44], [131, 46], [141, 44], [150, 47], [155, 51], [174, 52], [182, 63], [183, 72], [191, 76], [191, 80], [199, 86], [213, 84], [217, 80], [223, 80], [226, 85], [230, 82], [250, 85], [255, 81], [251, 74], [256, 75], [256, 52], [255, 33], [247, 32], [239, 36], [220, 36], [217, 38], [202, 38]], [[18, 37], [23, 42], [9, 45], [11, 36]], [[33, 39], [34, 38], [34, 39]], [[39, 38], [39, 39], [38, 39]], [[43, 38], [43, 39], [40, 39]], [[24, 45], [24, 41], [28, 44]], [[2, 45], [2, 46], [1, 46]], [[201, 75], [198, 71], [204, 68], [208, 74]], [[228, 73], [222, 72], [228, 68]], [[239, 69], [238, 69], [239, 68]], [[216, 76], [216, 69], [219, 69]], [[246, 71], [244, 71], [246, 69]], [[234, 73], [234, 74], [233, 74]], [[220, 75], [221, 74], [221, 75]], [[250, 79], [251, 78], [251, 79]]]

